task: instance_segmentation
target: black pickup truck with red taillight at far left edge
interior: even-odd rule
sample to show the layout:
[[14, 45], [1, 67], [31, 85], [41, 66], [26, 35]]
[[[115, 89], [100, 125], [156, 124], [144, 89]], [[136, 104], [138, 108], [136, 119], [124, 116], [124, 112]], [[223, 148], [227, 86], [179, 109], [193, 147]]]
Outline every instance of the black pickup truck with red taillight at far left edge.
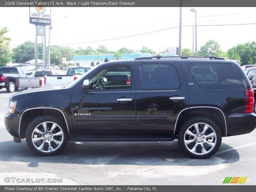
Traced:
[[6, 88], [8, 93], [18, 90], [18, 79], [27, 78], [31, 75], [27, 69], [21, 67], [0, 68], [0, 89]]

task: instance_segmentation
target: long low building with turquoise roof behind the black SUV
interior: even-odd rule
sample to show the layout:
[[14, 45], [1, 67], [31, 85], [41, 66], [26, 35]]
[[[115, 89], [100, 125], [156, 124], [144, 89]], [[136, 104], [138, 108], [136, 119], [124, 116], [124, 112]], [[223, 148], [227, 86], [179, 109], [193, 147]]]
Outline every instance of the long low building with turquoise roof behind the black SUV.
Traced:
[[[119, 60], [126, 59], [136, 59], [138, 57], [150, 57], [152, 54], [150, 53], [123, 53], [122, 57], [118, 58]], [[104, 62], [104, 60], [108, 58], [108, 60], [115, 60], [115, 54], [104, 54], [104, 55], [76, 55], [72, 58], [74, 60], [75, 66], [84, 66], [84, 67], [95, 67], [100, 63]]]

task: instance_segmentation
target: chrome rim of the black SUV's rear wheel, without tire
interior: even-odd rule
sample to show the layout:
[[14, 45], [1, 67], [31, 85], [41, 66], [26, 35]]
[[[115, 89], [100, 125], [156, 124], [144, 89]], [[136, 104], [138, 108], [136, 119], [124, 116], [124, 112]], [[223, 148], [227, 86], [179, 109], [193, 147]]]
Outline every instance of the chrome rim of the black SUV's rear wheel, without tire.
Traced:
[[212, 151], [216, 141], [216, 132], [210, 125], [205, 123], [191, 125], [184, 135], [186, 148], [196, 155], [205, 155]]

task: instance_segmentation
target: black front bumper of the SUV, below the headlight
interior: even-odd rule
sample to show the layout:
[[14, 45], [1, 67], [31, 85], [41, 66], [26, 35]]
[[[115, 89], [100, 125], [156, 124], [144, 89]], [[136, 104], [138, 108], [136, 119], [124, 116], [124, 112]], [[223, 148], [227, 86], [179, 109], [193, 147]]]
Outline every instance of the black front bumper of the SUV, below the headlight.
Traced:
[[7, 113], [4, 116], [4, 124], [7, 131], [15, 138], [20, 138], [19, 135], [19, 125], [20, 125], [20, 118], [17, 114]]

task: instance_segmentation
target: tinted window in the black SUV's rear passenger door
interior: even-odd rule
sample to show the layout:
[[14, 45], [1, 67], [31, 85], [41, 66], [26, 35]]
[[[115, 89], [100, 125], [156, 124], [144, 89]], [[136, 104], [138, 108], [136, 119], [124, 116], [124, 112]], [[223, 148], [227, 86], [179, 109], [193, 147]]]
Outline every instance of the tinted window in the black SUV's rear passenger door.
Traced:
[[180, 79], [170, 64], [142, 64], [140, 66], [141, 90], [177, 89]]

